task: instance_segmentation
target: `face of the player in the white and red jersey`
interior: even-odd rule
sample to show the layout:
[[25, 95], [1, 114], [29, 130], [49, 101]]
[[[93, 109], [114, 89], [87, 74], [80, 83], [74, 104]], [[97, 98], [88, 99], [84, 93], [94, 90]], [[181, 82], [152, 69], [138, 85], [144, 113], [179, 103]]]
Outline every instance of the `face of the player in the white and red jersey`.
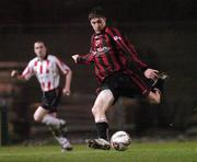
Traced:
[[39, 58], [45, 58], [46, 56], [46, 46], [44, 43], [35, 43], [34, 44], [34, 53], [36, 54], [37, 57]]

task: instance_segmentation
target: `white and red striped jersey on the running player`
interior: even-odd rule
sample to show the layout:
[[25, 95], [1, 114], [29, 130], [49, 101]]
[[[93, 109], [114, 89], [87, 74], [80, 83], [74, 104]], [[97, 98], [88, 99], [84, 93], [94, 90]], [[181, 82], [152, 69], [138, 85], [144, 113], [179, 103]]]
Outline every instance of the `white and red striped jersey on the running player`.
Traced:
[[59, 71], [67, 74], [70, 68], [56, 56], [48, 55], [44, 60], [38, 57], [32, 59], [24, 69], [22, 77], [28, 80], [32, 76], [36, 76], [42, 90], [47, 92], [59, 86]]

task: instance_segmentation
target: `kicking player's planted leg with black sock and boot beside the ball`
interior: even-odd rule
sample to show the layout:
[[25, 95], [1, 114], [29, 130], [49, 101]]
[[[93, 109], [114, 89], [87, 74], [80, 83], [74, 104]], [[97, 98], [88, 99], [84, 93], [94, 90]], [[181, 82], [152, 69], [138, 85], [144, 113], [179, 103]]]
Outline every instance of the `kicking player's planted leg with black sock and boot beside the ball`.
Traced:
[[114, 102], [114, 95], [111, 90], [103, 90], [97, 95], [95, 103], [92, 107], [92, 114], [96, 125], [99, 139], [89, 140], [89, 147], [94, 149], [111, 149], [108, 142], [108, 123], [106, 118], [106, 111]]

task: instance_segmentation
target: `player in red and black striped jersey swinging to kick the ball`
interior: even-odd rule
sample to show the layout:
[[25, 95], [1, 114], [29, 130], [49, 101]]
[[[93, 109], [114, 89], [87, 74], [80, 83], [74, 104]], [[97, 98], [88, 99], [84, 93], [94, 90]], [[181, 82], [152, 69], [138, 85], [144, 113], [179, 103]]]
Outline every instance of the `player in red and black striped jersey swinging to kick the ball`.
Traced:
[[119, 96], [142, 96], [159, 104], [162, 93], [159, 85], [166, 74], [150, 68], [139, 59], [134, 46], [120, 32], [106, 25], [106, 18], [101, 8], [93, 9], [89, 13], [89, 20], [94, 30], [90, 53], [73, 55], [72, 58], [77, 63], [94, 63], [99, 89], [92, 114], [99, 138], [89, 140], [88, 143], [91, 148], [107, 150], [111, 144], [106, 111]]

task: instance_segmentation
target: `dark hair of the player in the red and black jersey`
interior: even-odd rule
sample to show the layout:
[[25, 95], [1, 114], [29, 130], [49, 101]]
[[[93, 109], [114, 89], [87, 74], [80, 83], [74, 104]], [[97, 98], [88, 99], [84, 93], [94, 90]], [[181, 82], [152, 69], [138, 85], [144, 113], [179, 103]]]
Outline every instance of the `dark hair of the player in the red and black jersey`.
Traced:
[[89, 20], [91, 21], [94, 18], [106, 18], [105, 12], [101, 7], [96, 7], [90, 10]]

